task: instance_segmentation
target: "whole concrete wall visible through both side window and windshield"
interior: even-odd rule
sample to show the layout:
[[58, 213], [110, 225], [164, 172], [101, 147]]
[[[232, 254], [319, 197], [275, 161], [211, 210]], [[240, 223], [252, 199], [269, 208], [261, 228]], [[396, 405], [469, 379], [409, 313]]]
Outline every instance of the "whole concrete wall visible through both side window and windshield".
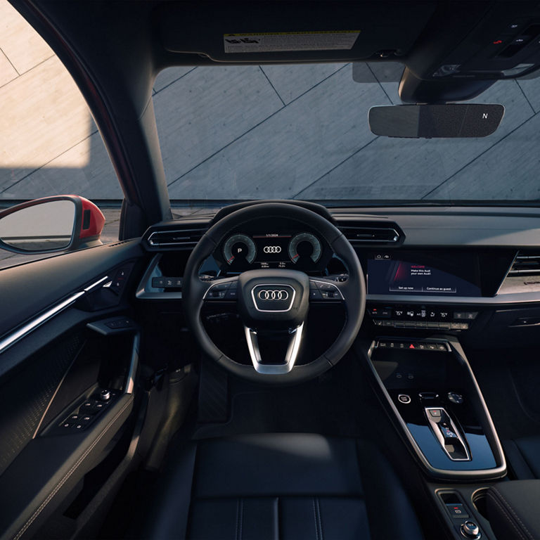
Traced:
[[[49, 46], [0, 0], [0, 199], [77, 193], [121, 199], [79, 91]], [[540, 79], [503, 81], [474, 101], [502, 103], [485, 139], [374, 136], [373, 105], [401, 103], [399, 66], [371, 63], [169, 68], [153, 85], [176, 200], [532, 199]], [[389, 75], [390, 73], [390, 75]]]

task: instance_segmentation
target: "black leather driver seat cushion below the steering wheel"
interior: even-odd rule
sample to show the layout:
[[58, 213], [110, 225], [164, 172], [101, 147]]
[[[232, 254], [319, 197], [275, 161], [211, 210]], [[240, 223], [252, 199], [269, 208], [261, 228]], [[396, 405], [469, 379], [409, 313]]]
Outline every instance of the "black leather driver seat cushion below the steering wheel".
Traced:
[[374, 446], [304, 433], [184, 443], [147, 515], [154, 540], [423, 538]]

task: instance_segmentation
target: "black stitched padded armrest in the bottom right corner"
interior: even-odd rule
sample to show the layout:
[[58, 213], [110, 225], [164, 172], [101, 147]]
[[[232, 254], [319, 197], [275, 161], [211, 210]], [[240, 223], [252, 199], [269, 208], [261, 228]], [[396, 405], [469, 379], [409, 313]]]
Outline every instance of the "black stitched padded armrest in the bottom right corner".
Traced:
[[498, 539], [540, 538], [540, 480], [499, 482], [487, 491], [489, 523]]

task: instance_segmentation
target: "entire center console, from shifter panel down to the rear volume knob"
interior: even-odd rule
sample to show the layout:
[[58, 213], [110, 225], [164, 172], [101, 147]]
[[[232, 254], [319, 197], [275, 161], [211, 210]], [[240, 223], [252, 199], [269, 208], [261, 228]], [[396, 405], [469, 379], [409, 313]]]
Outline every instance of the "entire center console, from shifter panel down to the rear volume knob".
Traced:
[[448, 530], [456, 539], [494, 539], [484, 496], [506, 475], [506, 461], [458, 338], [381, 333], [358, 347]]

